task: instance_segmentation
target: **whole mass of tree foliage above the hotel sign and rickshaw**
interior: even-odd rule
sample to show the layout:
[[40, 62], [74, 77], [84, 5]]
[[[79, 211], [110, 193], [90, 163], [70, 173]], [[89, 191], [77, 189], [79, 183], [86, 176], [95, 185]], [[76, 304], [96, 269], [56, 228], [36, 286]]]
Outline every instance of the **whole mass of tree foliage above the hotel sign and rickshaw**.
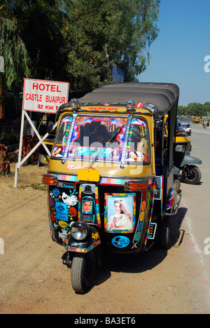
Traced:
[[[17, 48], [21, 54], [18, 62], [24, 54], [20, 79], [30, 72], [31, 78], [69, 81], [73, 95], [80, 96], [110, 82], [113, 63], [123, 69], [125, 81], [135, 81], [146, 69], [149, 47], [158, 36], [159, 3], [3, 0], [0, 17], [13, 23], [13, 34], [21, 41], [21, 51]], [[8, 41], [2, 30], [1, 40], [4, 44]], [[16, 48], [16, 43], [13, 46]], [[3, 46], [0, 52], [6, 56]], [[15, 67], [18, 69], [18, 63]]]

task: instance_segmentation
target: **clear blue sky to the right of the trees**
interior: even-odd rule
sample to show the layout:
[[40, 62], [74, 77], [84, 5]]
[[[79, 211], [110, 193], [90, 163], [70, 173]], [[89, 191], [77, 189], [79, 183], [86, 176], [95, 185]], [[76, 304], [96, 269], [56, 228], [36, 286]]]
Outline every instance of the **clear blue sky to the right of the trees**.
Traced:
[[176, 83], [179, 105], [210, 102], [210, 0], [160, 0], [160, 33], [139, 82]]

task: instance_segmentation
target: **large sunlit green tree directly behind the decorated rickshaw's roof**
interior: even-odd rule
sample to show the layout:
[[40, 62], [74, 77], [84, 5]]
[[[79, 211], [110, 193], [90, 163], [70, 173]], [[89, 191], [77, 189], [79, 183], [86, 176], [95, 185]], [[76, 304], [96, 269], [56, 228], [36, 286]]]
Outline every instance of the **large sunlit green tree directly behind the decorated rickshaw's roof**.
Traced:
[[69, 0], [64, 1], [69, 18], [71, 90], [83, 94], [111, 82], [115, 63], [125, 72], [125, 81], [146, 69], [148, 48], [158, 36], [159, 0]]

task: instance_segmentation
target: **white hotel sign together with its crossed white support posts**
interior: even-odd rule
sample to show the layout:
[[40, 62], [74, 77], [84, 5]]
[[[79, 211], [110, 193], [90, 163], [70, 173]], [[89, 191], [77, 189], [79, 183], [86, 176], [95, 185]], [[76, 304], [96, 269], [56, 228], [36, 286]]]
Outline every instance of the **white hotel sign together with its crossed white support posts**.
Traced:
[[[20, 166], [25, 163], [25, 161], [31, 156], [34, 151], [40, 146], [43, 145], [45, 151], [50, 156], [50, 151], [48, 147], [44, 144], [44, 140], [49, 136], [49, 133], [46, 133], [42, 138], [39, 135], [34, 123], [31, 121], [31, 118], [27, 114], [27, 111], [38, 111], [41, 113], [50, 113], [56, 114], [58, 107], [61, 104], [68, 102], [69, 95], [69, 83], [66, 82], [57, 82], [57, 81], [45, 81], [45, 80], [32, 80], [25, 78], [24, 81], [24, 92], [22, 100], [22, 118], [21, 118], [21, 128], [20, 128], [20, 144], [19, 144], [19, 153], [18, 153], [18, 163], [16, 163], [15, 168], [15, 183], [14, 186], [18, 186], [18, 169]], [[24, 122], [25, 118], [31, 125], [31, 128], [36, 133], [36, 136], [39, 139], [39, 142], [34, 146], [33, 149], [21, 160], [22, 154], [22, 138], [24, 132]], [[57, 123], [53, 126], [53, 129], [57, 126]]]

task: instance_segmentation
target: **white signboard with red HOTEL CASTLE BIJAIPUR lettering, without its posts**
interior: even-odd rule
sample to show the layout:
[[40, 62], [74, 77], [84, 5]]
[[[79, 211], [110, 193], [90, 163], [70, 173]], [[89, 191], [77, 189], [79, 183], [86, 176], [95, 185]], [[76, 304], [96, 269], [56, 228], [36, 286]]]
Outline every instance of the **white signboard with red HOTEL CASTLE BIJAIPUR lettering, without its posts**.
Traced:
[[69, 83], [24, 79], [22, 109], [56, 113], [61, 104], [68, 102]]

